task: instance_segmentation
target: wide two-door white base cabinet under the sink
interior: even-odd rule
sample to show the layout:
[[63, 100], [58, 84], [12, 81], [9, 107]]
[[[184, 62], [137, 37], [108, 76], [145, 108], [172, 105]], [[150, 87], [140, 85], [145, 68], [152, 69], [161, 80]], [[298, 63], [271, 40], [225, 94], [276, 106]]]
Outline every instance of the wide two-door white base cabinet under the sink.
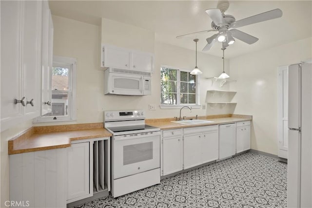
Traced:
[[184, 169], [218, 159], [218, 126], [184, 129]]

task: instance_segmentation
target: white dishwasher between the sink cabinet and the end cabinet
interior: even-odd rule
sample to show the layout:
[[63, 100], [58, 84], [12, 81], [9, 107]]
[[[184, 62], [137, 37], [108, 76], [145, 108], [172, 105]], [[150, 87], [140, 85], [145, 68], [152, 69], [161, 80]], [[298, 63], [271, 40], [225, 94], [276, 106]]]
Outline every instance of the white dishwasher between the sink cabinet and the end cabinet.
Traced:
[[231, 157], [236, 150], [236, 124], [219, 125], [219, 160]]

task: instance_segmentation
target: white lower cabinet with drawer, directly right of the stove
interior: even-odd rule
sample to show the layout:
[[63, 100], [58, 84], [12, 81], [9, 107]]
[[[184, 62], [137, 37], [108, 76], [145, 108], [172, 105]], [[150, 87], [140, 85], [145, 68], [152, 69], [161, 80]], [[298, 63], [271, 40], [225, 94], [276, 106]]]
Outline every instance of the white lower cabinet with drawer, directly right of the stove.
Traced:
[[162, 132], [162, 175], [183, 170], [182, 129]]

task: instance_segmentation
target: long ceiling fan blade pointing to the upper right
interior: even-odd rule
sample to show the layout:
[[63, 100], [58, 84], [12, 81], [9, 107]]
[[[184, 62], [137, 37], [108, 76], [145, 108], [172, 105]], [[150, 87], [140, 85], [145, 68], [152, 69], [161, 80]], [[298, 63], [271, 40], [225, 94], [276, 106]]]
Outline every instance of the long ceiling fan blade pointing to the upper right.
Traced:
[[274, 9], [268, 12], [264, 12], [258, 15], [254, 15], [249, 18], [240, 19], [238, 21], [233, 22], [230, 27], [238, 28], [249, 24], [254, 24], [261, 21], [266, 21], [270, 19], [280, 18], [282, 17], [283, 12], [280, 9]]

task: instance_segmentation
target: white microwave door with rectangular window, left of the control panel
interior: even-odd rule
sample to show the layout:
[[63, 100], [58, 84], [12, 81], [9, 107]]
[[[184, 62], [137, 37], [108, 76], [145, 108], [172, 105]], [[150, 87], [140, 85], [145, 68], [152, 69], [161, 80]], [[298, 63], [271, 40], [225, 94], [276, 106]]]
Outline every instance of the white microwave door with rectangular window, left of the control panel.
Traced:
[[106, 94], [109, 95], [144, 95], [143, 76], [109, 73]]

